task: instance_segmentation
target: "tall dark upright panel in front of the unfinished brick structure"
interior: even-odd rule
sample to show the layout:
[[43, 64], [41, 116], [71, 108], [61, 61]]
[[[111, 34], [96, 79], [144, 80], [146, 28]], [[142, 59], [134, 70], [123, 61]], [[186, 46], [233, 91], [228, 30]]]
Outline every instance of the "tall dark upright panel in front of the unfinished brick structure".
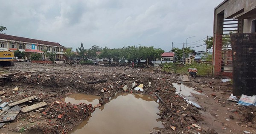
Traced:
[[231, 34], [233, 95], [256, 94], [256, 33]]

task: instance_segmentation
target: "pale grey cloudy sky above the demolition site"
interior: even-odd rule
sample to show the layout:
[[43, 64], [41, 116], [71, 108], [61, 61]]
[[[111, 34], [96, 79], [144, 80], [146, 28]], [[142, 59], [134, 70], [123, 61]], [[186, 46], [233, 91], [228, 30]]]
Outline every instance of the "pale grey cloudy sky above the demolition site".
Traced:
[[222, 1], [0, 0], [0, 26], [9, 35], [58, 42], [73, 50], [82, 42], [84, 48], [140, 44], [170, 51], [172, 43], [182, 48], [188, 37], [187, 46], [204, 44], [213, 35], [214, 8]]

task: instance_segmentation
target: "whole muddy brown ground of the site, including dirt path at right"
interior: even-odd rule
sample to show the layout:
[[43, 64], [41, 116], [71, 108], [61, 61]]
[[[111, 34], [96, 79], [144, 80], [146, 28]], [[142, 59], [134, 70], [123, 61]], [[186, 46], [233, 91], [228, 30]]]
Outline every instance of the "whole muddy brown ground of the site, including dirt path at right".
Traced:
[[[20, 112], [14, 121], [0, 129], [2, 134], [66, 134], [95, 109], [90, 104], [65, 103], [61, 98], [73, 93], [85, 93], [99, 95], [102, 97], [100, 103], [106, 103], [116, 92], [123, 92], [122, 87], [125, 85], [128, 86], [126, 92], [140, 93], [131, 88], [134, 81], [137, 81], [137, 85], [144, 84], [143, 94], [151, 94], [157, 100], [156, 92], [169, 109], [159, 103], [159, 115], [165, 128], [152, 134], [256, 134], [256, 108], [227, 101], [232, 94], [232, 83], [223, 83], [221, 78], [190, 77], [189, 82], [183, 82], [201, 93], [193, 94], [192, 101], [201, 106], [196, 108], [175, 94], [172, 83], [182, 82], [183, 76], [165, 73], [161, 69], [152, 71], [118, 65], [15, 63], [15, 66], [0, 68], [0, 73], [16, 73], [11, 78], [0, 79], [0, 90], [6, 91], [0, 97], [3, 102], [15, 102], [36, 95], [37, 99], [25, 104], [42, 101], [48, 104], [40, 112]], [[17, 91], [13, 90], [16, 86], [19, 87]]]

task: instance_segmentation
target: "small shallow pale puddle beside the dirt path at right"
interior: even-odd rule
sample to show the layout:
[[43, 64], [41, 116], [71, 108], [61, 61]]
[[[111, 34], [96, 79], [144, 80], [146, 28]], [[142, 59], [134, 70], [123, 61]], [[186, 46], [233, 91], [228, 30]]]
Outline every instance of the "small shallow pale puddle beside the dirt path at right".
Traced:
[[201, 94], [198, 91], [195, 91], [194, 88], [189, 88], [183, 84], [172, 83], [172, 85], [176, 88], [176, 91], [182, 94], [183, 96], [191, 96], [191, 93]]

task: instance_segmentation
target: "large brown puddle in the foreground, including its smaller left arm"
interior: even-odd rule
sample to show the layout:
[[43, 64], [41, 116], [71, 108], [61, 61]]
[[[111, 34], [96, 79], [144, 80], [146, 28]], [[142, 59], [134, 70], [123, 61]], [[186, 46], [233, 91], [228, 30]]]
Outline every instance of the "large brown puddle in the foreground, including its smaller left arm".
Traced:
[[[87, 98], [90, 98], [89, 102], [94, 102], [100, 97], [72, 94], [64, 99], [78, 104], [88, 101]], [[99, 100], [93, 105], [98, 103]], [[69, 134], [148, 134], [164, 128], [157, 115], [158, 106], [150, 95], [118, 93], [108, 103], [96, 108], [91, 117], [77, 125]]]

